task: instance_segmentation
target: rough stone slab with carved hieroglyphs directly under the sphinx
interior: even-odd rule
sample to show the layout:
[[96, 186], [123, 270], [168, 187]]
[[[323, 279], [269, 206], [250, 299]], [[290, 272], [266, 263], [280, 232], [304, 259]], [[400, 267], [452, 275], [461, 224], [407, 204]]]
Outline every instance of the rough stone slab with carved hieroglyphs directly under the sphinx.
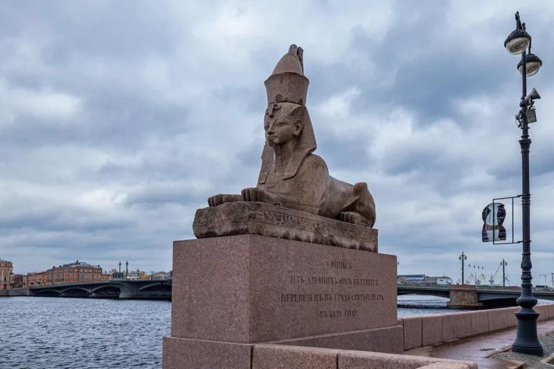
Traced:
[[261, 202], [198, 209], [193, 230], [198, 238], [264, 235], [377, 252], [377, 229]]

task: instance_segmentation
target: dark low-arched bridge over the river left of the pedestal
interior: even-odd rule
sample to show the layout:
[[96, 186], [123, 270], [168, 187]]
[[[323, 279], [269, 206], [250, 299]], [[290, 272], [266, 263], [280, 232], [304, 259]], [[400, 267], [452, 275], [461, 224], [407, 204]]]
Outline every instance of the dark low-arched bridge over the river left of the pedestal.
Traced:
[[172, 280], [112, 279], [26, 289], [28, 296], [171, 300]]

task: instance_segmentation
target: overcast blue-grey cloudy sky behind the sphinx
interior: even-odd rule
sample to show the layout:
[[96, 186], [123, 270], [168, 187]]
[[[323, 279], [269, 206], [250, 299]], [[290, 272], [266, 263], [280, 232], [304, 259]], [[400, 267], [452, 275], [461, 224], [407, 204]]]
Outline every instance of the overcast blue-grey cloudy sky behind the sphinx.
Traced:
[[531, 239], [544, 284], [539, 274], [554, 272], [547, 1], [4, 2], [0, 258], [16, 273], [71, 260], [171, 269], [172, 241], [194, 237], [208, 196], [256, 185], [263, 81], [297, 44], [316, 153], [334, 177], [368, 183], [379, 251], [397, 255], [399, 273], [456, 281], [464, 251], [488, 277], [505, 258], [519, 283], [521, 245], [481, 242], [481, 210], [521, 193], [519, 59], [503, 48], [516, 10], [544, 62], [528, 82], [542, 95]]

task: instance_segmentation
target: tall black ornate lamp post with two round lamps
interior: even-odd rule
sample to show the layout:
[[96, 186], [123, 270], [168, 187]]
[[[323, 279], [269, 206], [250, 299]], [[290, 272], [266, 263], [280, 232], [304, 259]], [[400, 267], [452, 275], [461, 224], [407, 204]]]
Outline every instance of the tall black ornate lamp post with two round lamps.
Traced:
[[[543, 355], [542, 345], [537, 337], [537, 318], [539, 314], [533, 310], [537, 305], [537, 299], [533, 297], [533, 284], [531, 280], [531, 237], [530, 237], [530, 190], [529, 190], [529, 150], [531, 140], [529, 138], [529, 123], [536, 121], [533, 100], [540, 98], [535, 89], [527, 95], [527, 77], [535, 75], [542, 66], [542, 61], [531, 53], [531, 36], [526, 32], [525, 24], [521, 24], [519, 12], [515, 13], [517, 27], [504, 42], [508, 53], [521, 54], [521, 62], [517, 69], [522, 75], [522, 93], [519, 102], [519, 113], [516, 119], [521, 128], [521, 209], [523, 219], [523, 252], [521, 253], [521, 296], [517, 299], [517, 305], [521, 307], [515, 313], [517, 317], [517, 337], [512, 344], [513, 352], [523, 352], [537, 356]], [[526, 51], [528, 50], [528, 53]]]

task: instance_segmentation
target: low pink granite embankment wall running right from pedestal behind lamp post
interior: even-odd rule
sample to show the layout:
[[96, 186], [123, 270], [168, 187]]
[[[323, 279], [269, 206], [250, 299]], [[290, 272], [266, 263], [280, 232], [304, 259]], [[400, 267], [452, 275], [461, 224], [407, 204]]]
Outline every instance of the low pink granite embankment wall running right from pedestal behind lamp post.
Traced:
[[[521, 308], [505, 307], [399, 318], [404, 326], [404, 350], [516, 327], [514, 313], [519, 309]], [[540, 314], [539, 322], [554, 319], [554, 304], [537, 305], [534, 309]]]

